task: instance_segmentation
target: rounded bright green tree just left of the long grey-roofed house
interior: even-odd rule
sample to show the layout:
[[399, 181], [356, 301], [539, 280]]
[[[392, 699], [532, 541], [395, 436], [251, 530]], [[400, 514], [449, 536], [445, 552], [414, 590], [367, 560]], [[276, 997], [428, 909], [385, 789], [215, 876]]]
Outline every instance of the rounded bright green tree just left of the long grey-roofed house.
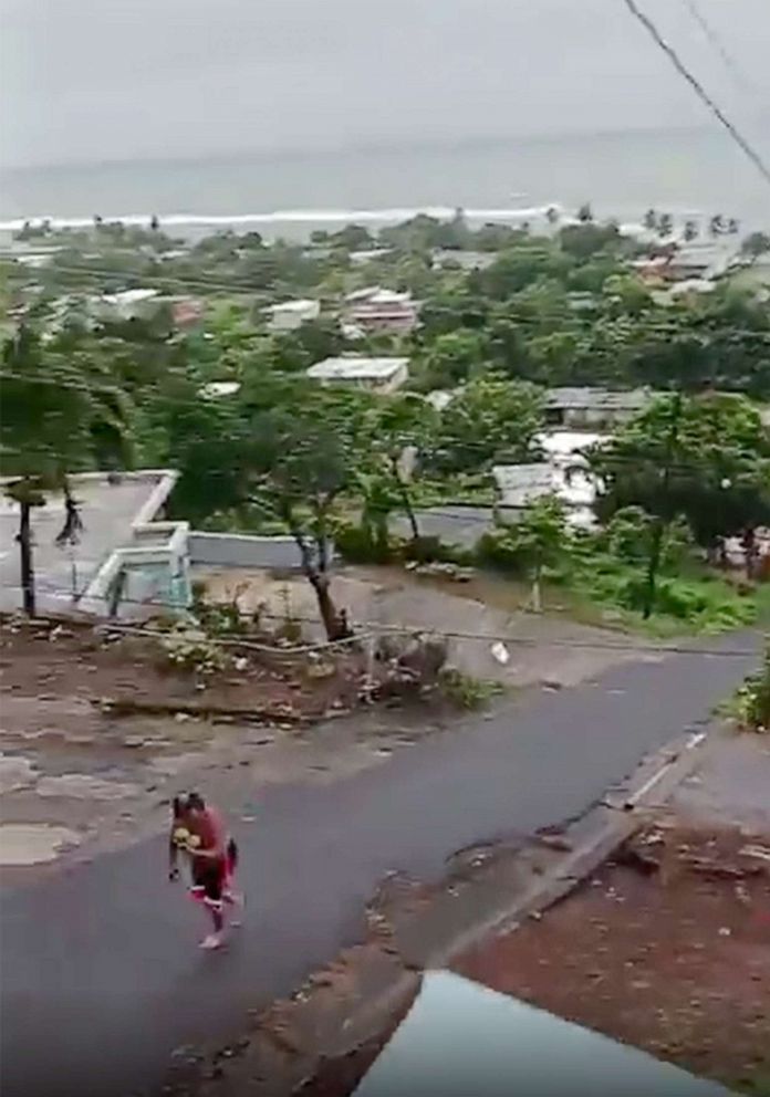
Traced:
[[480, 377], [441, 414], [431, 467], [443, 473], [482, 471], [493, 462], [531, 460], [543, 425], [543, 397], [527, 382]]

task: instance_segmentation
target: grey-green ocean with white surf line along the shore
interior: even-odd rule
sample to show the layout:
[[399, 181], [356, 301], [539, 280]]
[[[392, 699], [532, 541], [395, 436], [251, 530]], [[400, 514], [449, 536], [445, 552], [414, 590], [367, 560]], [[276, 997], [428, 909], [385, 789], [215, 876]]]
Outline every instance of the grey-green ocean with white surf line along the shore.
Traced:
[[770, 187], [726, 134], [704, 128], [15, 168], [0, 173], [0, 231], [27, 218], [90, 223], [95, 213], [137, 221], [156, 213], [183, 236], [252, 226], [296, 239], [417, 210], [462, 207], [478, 220], [506, 220], [584, 201], [622, 221], [654, 206], [676, 218], [721, 212], [745, 230], [770, 228]]

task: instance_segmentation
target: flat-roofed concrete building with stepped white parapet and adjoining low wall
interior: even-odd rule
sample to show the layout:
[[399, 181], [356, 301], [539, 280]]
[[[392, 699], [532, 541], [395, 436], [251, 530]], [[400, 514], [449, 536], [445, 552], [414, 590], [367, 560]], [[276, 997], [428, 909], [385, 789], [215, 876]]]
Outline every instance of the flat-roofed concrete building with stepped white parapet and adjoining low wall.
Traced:
[[[32, 512], [33, 566], [38, 610], [86, 613], [97, 617], [143, 618], [183, 613], [191, 600], [196, 573], [222, 570], [298, 571], [302, 558], [291, 536], [261, 537], [190, 530], [166, 521], [164, 512], [177, 473], [86, 472], [69, 478], [83, 527], [75, 543], [60, 547], [65, 518], [61, 493]], [[0, 480], [0, 609], [20, 609], [19, 506]], [[330, 545], [334, 554], [334, 545]]]

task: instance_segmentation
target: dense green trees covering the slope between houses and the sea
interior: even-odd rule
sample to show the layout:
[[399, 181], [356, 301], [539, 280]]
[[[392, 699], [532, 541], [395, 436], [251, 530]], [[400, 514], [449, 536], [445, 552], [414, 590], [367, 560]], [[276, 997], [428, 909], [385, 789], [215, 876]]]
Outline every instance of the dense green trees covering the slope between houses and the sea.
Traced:
[[[770, 310], [729, 279], [708, 295], [663, 300], [628, 265], [639, 245], [587, 208], [543, 236], [474, 231], [458, 215], [420, 216], [376, 240], [348, 226], [314, 233], [310, 247], [267, 244], [257, 232], [186, 247], [157, 223], [98, 219], [43, 240], [60, 248], [48, 265], [3, 268], [15, 318], [3, 347], [2, 471], [22, 510], [67, 472], [175, 467], [173, 506], [191, 522], [294, 535], [336, 635], [332, 536], [371, 560], [446, 554], [420, 537], [419, 509], [489, 503], [493, 463], [537, 460], [547, 387], [645, 385], [659, 397], [590, 455], [604, 484], [599, 529], [572, 532], [545, 500], [493, 530], [476, 560], [528, 575], [537, 603], [545, 578], [618, 612], [697, 625], [756, 612], [750, 589], [736, 593], [708, 570], [739, 536], [753, 581], [756, 531], [770, 524], [770, 443], [756, 403], [770, 399]], [[766, 242], [747, 241], [747, 262]], [[440, 268], [435, 249], [445, 250]], [[489, 261], [466, 270], [459, 258], [475, 252]], [[423, 302], [414, 333], [345, 336], [344, 295], [372, 283]], [[202, 297], [202, 322], [178, 331], [164, 307], [94, 321], [91, 295], [135, 286]], [[322, 318], [269, 331], [264, 306], [298, 295], [318, 297]], [[305, 377], [344, 351], [407, 355], [408, 388], [383, 399]], [[240, 387], [205, 395], [225, 380]], [[423, 398], [433, 389], [458, 391], [438, 412]], [[393, 536], [396, 514], [406, 544]]]

